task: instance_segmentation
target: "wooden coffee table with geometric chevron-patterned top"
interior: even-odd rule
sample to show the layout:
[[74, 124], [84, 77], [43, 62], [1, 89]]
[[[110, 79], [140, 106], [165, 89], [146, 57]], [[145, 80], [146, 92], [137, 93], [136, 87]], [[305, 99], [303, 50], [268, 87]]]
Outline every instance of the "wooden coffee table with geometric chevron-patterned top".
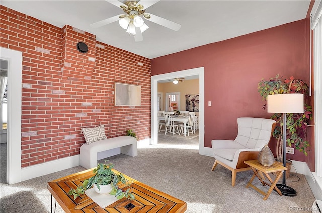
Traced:
[[[114, 173], [118, 173], [114, 170]], [[122, 198], [115, 203], [102, 209], [86, 194], [77, 197], [75, 200], [73, 196], [68, 195], [71, 188], [76, 188], [83, 180], [93, 176], [93, 169], [78, 172], [52, 182], [47, 183], [47, 189], [51, 195], [56, 199], [59, 205], [65, 212], [169, 212], [181, 213], [187, 210], [187, 203], [181, 201], [166, 193], [160, 192], [148, 185], [145, 185], [137, 180], [134, 180], [126, 175], [124, 177], [133, 181], [133, 191], [135, 200]], [[132, 204], [132, 209], [128, 210], [126, 207]], [[52, 203], [51, 203], [52, 206]], [[52, 208], [52, 207], [51, 207]]]

